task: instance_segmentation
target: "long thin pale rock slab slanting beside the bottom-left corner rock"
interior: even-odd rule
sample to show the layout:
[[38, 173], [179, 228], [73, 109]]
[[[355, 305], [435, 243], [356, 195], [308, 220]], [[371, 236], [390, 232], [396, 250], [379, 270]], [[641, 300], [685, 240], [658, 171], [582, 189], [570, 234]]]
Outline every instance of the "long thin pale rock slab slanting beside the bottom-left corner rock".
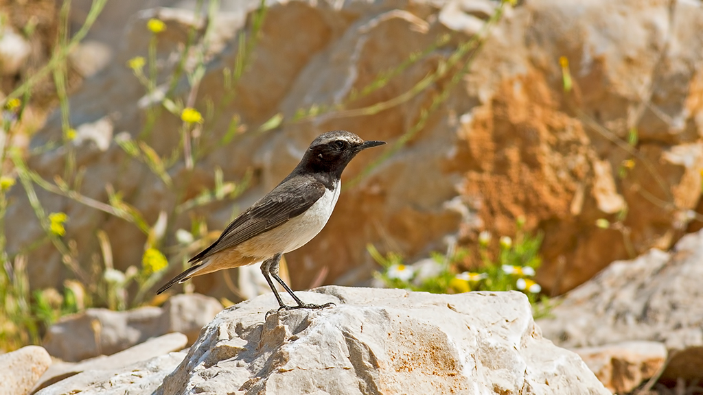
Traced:
[[134, 347], [112, 354], [111, 356], [98, 356], [89, 358], [79, 363], [56, 362], [49, 366], [49, 369], [41, 375], [33, 391], [49, 387], [51, 384], [66, 380], [67, 377], [77, 375], [82, 372], [92, 372], [94, 370], [118, 371], [127, 365], [133, 365], [141, 361], [147, 361], [158, 356], [164, 356], [172, 351], [181, 351], [188, 344], [188, 337], [182, 333], [169, 333], [146, 342], [137, 344]]

